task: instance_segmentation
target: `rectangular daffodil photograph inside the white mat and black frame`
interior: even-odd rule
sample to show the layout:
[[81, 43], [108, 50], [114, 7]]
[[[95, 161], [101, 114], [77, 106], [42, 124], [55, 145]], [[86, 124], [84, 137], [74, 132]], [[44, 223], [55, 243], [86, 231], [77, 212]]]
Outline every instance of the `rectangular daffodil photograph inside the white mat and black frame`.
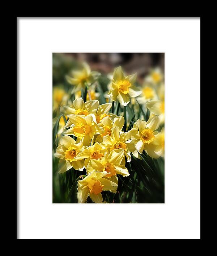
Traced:
[[52, 203], [165, 203], [164, 70], [161, 52], [52, 53]]

